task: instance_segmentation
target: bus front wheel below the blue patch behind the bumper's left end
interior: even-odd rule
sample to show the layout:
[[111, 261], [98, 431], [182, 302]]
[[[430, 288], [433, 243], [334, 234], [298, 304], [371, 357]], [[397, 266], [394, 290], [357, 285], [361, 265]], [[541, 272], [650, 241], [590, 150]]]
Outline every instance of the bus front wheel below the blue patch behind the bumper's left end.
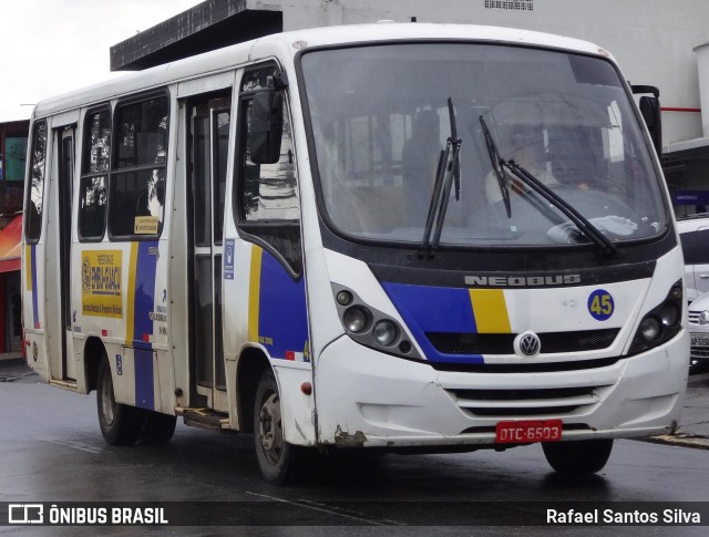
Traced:
[[254, 400], [254, 445], [264, 478], [277, 485], [302, 477], [306, 450], [285, 441], [280, 394], [271, 370], [258, 382]]

